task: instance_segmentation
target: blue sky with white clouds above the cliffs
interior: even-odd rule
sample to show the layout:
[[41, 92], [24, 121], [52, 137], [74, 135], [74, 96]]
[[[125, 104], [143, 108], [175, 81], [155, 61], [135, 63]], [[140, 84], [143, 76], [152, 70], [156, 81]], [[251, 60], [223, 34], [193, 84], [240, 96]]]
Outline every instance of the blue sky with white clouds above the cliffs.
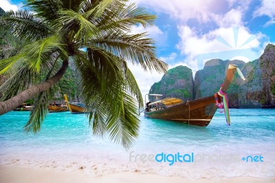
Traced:
[[[19, 10], [21, 0], [1, 0], [3, 10]], [[254, 61], [275, 43], [275, 0], [130, 0], [155, 14], [155, 25], [136, 25], [132, 33], [155, 39], [157, 57], [169, 68], [186, 65], [193, 75], [212, 58]], [[129, 64], [142, 95], [163, 74]]]

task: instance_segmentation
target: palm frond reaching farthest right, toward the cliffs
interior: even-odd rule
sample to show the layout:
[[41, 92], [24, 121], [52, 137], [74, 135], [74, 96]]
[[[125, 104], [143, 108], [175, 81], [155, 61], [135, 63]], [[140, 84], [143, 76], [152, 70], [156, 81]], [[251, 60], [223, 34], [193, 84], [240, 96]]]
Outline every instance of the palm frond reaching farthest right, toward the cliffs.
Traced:
[[156, 58], [153, 40], [146, 39], [145, 36], [146, 34], [113, 33], [93, 39], [90, 44], [113, 52], [133, 64], [141, 65], [145, 71], [155, 69], [159, 73], [166, 72], [167, 64]]

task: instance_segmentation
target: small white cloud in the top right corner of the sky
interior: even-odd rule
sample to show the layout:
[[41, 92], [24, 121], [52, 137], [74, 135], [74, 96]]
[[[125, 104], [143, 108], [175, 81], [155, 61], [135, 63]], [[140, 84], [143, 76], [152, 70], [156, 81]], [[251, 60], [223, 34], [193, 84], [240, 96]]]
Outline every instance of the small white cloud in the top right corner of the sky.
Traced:
[[261, 6], [254, 11], [254, 17], [268, 16], [270, 21], [265, 25], [271, 25], [275, 23], [275, 1], [274, 0], [262, 0]]

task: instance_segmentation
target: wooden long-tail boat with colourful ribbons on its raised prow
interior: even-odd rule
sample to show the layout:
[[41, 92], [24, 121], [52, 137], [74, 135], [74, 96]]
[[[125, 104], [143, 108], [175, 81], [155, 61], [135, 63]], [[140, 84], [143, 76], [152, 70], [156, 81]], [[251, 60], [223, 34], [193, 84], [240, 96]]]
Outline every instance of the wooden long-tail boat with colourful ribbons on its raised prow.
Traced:
[[[154, 103], [145, 102], [146, 109], [144, 115], [148, 118], [172, 120], [184, 122], [188, 125], [206, 127], [212, 120], [217, 108], [224, 106], [226, 120], [228, 125], [230, 125], [226, 92], [237, 69], [238, 67], [236, 65], [229, 65], [221, 89], [216, 94], [213, 94], [213, 96], [187, 101], [186, 103], [179, 98], [164, 98], [163, 100], [158, 100]], [[243, 78], [243, 75], [239, 70], [238, 73]], [[159, 96], [157, 94], [153, 95]]]

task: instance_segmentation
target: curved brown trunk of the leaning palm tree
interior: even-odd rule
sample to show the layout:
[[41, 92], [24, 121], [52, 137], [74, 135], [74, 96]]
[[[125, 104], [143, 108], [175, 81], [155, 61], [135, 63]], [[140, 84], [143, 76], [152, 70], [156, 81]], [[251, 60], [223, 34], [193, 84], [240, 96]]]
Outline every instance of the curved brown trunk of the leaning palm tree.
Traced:
[[49, 78], [43, 83], [39, 83], [38, 85], [34, 85], [28, 89], [25, 89], [23, 92], [18, 94], [17, 96], [14, 96], [8, 100], [5, 100], [3, 102], [0, 102], [0, 115], [7, 113], [8, 111], [12, 111], [19, 105], [25, 102], [25, 100], [28, 100], [35, 96], [36, 94], [39, 94], [40, 92], [45, 92], [52, 85], [57, 83], [65, 73], [67, 67], [69, 65], [69, 62], [67, 60], [63, 61], [63, 65], [59, 71], [52, 76], [52, 78]]

